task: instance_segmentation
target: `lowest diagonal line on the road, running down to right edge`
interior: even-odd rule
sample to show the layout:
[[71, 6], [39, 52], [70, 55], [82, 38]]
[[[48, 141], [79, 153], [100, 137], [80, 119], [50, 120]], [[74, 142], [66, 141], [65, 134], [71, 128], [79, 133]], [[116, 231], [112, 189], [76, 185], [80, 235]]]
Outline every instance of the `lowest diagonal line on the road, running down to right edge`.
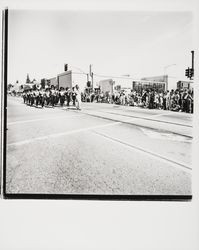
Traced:
[[99, 136], [102, 136], [104, 138], [107, 138], [111, 141], [114, 141], [114, 142], [117, 142], [117, 143], [120, 143], [122, 144], [123, 146], [127, 146], [127, 147], [130, 147], [130, 148], [133, 148], [134, 150], [138, 151], [138, 152], [142, 152], [144, 154], [147, 154], [149, 155], [150, 157], [152, 158], [155, 158], [155, 159], [159, 159], [163, 162], [166, 162], [166, 163], [170, 163], [172, 164], [174, 167], [176, 168], [180, 168], [182, 169], [183, 168], [183, 171], [187, 172], [187, 173], [190, 173], [190, 171], [192, 170], [191, 167], [189, 167], [187, 164], [185, 164], [184, 162], [179, 162], [179, 161], [175, 161], [175, 160], [172, 160], [172, 159], [168, 159], [166, 158], [165, 156], [163, 155], [160, 155], [160, 154], [157, 154], [157, 153], [154, 153], [148, 149], [144, 149], [144, 148], [141, 148], [141, 147], [138, 147], [138, 146], [135, 146], [133, 144], [130, 144], [130, 143], [127, 143], [127, 142], [124, 142], [124, 141], [121, 141], [120, 139], [117, 139], [117, 138], [114, 138], [114, 137], [111, 137], [111, 136], [108, 136], [108, 135], [105, 135], [103, 133], [100, 133], [100, 132], [97, 132], [97, 131], [94, 131], [92, 130], [93, 133], [99, 135]]

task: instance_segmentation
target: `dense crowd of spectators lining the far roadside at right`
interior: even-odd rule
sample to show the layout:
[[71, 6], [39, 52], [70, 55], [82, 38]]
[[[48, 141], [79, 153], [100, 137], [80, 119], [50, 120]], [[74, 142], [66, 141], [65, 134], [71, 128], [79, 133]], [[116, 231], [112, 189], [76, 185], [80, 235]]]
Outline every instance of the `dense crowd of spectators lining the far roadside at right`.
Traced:
[[110, 92], [82, 93], [82, 101], [193, 113], [193, 91], [188, 89], [171, 91], [147, 89], [142, 92], [121, 90], [114, 91], [112, 94]]

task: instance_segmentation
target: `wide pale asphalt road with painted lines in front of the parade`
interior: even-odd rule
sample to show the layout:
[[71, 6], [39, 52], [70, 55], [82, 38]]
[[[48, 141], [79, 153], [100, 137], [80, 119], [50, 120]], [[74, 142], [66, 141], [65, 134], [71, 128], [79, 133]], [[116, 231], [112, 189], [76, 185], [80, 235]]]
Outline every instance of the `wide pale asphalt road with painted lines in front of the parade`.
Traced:
[[7, 193], [190, 195], [192, 114], [8, 97]]

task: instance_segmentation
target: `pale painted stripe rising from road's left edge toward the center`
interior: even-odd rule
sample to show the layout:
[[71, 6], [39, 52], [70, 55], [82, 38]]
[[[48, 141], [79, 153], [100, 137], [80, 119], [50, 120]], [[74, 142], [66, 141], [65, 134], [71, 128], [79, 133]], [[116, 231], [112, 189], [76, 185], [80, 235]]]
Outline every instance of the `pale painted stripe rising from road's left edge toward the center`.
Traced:
[[92, 126], [92, 127], [87, 127], [87, 128], [75, 129], [75, 130], [68, 131], [68, 132], [63, 132], [63, 133], [56, 133], [56, 134], [40, 136], [40, 137], [28, 139], [28, 140], [19, 141], [19, 142], [8, 143], [7, 146], [21, 146], [21, 145], [29, 144], [29, 143], [32, 143], [32, 142], [35, 142], [35, 141], [46, 140], [46, 139], [50, 139], [50, 138], [57, 138], [57, 137], [66, 136], [66, 135], [72, 135], [72, 134], [88, 131], [88, 130], [91, 130], [91, 129], [114, 126], [114, 125], [117, 125], [117, 124], [120, 124], [120, 123], [121, 122], [111, 122], [111, 123], [104, 124], [104, 125]]

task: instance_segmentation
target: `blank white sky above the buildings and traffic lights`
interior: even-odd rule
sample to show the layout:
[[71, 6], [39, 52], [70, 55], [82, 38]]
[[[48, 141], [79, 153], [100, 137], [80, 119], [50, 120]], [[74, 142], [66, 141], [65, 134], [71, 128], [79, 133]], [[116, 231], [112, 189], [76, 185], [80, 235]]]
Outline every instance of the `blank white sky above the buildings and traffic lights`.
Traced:
[[[191, 12], [9, 10], [9, 83], [53, 77], [64, 63], [96, 74], [187, 80]], [[74, 69], [74, 68], [72, 68]], [[77, 71], [77, 70], [76, 70]], [[99, 80], [99, 79], [97, 79]]]

